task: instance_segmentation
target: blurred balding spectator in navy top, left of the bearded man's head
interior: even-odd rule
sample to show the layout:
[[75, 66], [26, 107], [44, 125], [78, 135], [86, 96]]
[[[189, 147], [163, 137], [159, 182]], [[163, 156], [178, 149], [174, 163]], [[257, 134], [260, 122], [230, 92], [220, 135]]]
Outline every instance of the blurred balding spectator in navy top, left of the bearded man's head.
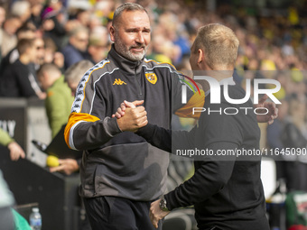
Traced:
[[69, 43], [62, 49], [64, 55], [64, 69], [68, 69], [72, 64], [86, 60], [88, 56], [88, 29], [79, 26], [70, 32]]

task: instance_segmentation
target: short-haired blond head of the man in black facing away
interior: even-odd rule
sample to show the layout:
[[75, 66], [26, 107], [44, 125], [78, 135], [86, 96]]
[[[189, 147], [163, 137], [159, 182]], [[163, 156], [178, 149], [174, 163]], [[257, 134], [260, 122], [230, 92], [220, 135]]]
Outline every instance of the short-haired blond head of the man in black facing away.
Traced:
[[200, 27], [193, 52], [203, 50], [210, 69], [224, 70], [221, 68], [235, 66], [238, 45], [235, 32], [225, 25], [211, 23]]

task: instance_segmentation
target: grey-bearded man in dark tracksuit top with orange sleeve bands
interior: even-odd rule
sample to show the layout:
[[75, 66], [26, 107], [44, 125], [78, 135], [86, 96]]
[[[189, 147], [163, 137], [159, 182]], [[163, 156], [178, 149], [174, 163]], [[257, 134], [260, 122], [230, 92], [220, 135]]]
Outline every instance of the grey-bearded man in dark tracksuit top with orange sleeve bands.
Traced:
[[[171, 65], [144, 59], [151, 28], [141, 5], [119, 6], [110, 36], [114, 44], [107, 59], [89, 69], [79, 82], [65, 140], [71, 149], [84, 150], [80, 195], [92, 229], [149, 230], [153, 229], [150, 203], [166, 188], [169, 156], [135, 133], [115, 137], [129, 121], [123, 117], [117, 124], [110, 117], [125, 98], [147, 98], [149, 120], [169, 128], [172, 113], [183, 109], [178, 97], [181, 82]], [[188, 99], [193, 97], [188, 90]], [[195, 106], [202, 106], [203, 94], [195, 101]]]

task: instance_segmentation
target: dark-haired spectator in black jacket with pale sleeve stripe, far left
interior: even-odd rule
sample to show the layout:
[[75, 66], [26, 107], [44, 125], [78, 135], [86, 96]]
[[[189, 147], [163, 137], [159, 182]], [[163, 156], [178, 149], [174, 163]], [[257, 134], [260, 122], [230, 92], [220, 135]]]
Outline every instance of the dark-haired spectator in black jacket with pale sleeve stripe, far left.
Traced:
[[18, 41], [19, 59], [5, 69], [1, 76], [1, 93], [4, 97], [46, 97], [36, 80], [34, 39]]

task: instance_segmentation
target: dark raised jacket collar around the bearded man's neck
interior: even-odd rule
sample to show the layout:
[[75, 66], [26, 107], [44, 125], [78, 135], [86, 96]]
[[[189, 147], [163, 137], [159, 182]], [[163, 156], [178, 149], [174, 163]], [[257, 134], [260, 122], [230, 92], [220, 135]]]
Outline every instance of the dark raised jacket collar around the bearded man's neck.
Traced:
[[113, 61], [116, 64], [116, 67], [122, 69], [130, 74], [139, 74], [144, 63], [144, 58], [138, 61], [127, 60], [123, 56], [119, 55], [112, 44], [111, 50], [107, 54], [107, 59]]

